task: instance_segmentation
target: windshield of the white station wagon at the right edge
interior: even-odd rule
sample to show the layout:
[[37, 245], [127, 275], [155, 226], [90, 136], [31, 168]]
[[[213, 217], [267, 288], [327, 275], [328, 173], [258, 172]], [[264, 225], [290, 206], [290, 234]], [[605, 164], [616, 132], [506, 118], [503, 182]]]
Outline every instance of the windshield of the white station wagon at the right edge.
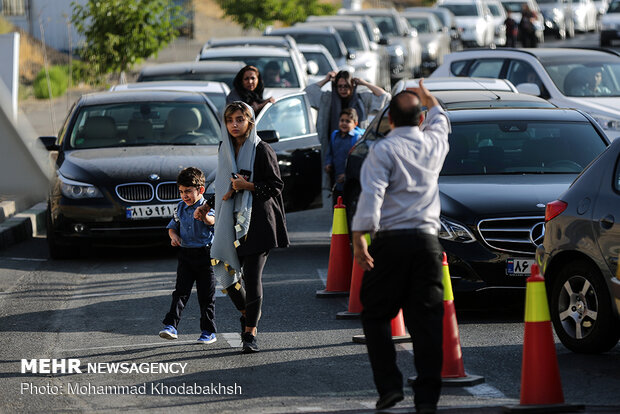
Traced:
[[541, 59], [555, 86], [566, 96], [620, 96], [620, 60]]

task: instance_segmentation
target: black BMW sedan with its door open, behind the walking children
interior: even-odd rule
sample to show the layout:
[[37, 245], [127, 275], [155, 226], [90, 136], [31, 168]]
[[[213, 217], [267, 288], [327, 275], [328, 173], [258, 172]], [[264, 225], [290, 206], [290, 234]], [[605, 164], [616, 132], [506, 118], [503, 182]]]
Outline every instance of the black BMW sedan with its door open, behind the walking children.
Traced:
[[[320, 145], [309, 108], [300, 92], [257, 118], [259, 136], [278, 156], [289, 212], [321, 206]], [[62, 258], [91, 243], [167, 243], [165, 226], [180, 201], [177, 174], [189, 166], [207, 177], [215, 170], [221, 128], [204, 94], [116, 91], [82, 96], [58, 136], [40, 140], [56, 163], [49, 252]]]

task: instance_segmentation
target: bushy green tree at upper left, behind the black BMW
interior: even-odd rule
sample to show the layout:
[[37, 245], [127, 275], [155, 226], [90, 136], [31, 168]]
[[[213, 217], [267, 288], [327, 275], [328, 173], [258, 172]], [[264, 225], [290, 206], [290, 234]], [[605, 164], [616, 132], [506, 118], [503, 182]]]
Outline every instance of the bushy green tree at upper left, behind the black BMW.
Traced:
[[122, 73], [156, 54], [184, 21], [170, 0], [88, 0], [72, 6], [71, 21], [86, 38], [80, 56], [99, 75]]

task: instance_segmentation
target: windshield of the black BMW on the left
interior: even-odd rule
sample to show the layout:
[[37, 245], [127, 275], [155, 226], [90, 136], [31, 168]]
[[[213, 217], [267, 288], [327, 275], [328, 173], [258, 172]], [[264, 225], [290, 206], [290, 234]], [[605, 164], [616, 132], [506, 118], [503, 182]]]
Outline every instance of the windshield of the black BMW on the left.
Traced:
[[128, 102], [83, 107], [69, 134], [70, 149], [147, 145], [217, 145], [220, 126], [206, 104]]

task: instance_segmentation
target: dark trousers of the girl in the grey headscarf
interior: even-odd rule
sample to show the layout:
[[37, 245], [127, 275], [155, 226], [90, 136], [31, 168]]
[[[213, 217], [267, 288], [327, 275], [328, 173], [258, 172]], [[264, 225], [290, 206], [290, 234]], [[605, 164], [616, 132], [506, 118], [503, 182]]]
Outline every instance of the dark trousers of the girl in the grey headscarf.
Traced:
[[230, 300], [240, 311], [245, 311], [245, 326], [258, 326], [263, 307], [263, 268], [269, 252], [239, 257], [243, 269], [243, 286], [226, 289]]

